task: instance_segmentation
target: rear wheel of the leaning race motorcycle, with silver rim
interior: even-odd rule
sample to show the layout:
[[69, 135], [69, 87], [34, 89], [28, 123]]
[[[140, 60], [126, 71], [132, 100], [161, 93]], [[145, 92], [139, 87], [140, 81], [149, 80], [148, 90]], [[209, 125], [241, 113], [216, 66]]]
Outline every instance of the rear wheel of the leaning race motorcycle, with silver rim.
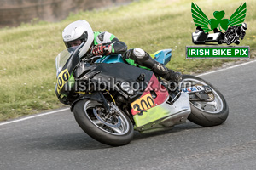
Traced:
[[189, 86], [208, 86], [212, 89], [212, 93], [207, 94], [209, 99], [205, 100], [195, 99], [193, 94], [189, 94], [191, 107], [189, 121], [203, 127], [217, 126], [225, 122], [229, 115], [229, 107], [217, 88], [200, 77], [190, 75], [183, 75], [183, 82], [190, 84]]

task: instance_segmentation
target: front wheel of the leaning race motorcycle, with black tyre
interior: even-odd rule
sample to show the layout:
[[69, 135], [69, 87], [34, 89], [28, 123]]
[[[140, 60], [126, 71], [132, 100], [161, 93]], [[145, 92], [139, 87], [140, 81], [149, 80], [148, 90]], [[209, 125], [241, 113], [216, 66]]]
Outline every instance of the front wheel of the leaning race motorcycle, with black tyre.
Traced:
[[74, 106], [73, 113], [79, 126], [91, 138], [112, 146], [128, 144], [133, 138], [132, 123], [123, 111], [113, 107], [113, 112], [107, 113], [101, 103], [84, 99]]

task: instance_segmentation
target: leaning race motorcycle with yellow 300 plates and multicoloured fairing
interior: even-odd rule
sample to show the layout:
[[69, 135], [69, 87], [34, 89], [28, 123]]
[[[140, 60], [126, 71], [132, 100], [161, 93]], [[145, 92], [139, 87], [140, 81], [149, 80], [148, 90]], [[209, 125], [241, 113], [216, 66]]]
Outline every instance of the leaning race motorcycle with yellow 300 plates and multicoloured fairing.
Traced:
[[[224, 96], [200, 77], [183, 75], [177, 86], [152, 71], [125, 64], [120, 54], [80, 58], [83, 45], [56, 57], [55, 94], [70, 105], [79, 127], [93, 139], [119, 146], [130, 143], [135, 130], [167, 130], [187, 120], [212, 127], [227, 119]], [[151, 56], [166, 65], [172, 50]]]

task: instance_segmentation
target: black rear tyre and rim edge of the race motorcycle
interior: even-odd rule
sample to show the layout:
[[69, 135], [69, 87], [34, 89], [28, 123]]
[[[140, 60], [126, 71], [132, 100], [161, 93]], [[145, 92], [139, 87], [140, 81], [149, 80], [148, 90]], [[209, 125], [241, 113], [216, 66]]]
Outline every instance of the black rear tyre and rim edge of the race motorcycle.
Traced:
[[[226, 100], [224, 99], [224, 96], [218, 91], [217, 88], [214, 88], [211, 83], [201, 79], [200, 77], [194, 77], [190, 75], [183, 75], [183, 81], [191, 81], [207, 85], [210, 88], [212, 88], [213, 94], [214, 94], [214, 100], [216, 100], [216, 105], [218, 106], [217, 111], [204, 111], [203, 109], [199, 108], [196, 103], [193, 103], [190, 101], [190, 107], [191, 107], [191, 114], [189, 115], [188, 119], [191, 122], [194, 122], [195, 124], [201, 125], [202, 127], [212, 127], [217, 126], [225, 122], [229, 115], [229, 107], [227, 105]], [[217, 100], [218, 97], [218, 100]], [[203, 102], [202, 102], [203, 103]], [[221, 104], [218, 104], [221, 103]]]

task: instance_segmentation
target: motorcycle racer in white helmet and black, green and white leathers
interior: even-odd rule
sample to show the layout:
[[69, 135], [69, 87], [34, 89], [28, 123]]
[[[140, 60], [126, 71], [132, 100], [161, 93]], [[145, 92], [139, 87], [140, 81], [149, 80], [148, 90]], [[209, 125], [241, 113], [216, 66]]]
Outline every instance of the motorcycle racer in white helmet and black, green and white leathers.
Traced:
[[180, 82], [182, 79], [180, 72], [167, 69], [165, 65], [158, 63], [143, 49], [127, 50], [125, 42], [119, 41], [117, 37], [108, 31], [92, 31], [90, 24], [86, 20], [77, 20], [66, 26], [62, 32], [62, 37], [67, 48], [78, 46], [84, 42], [79, 56], [87, 54], [92, 56], [123, 54], [123, 59], [128, 64], [142, 68], [146, 67], [167, 81]]

